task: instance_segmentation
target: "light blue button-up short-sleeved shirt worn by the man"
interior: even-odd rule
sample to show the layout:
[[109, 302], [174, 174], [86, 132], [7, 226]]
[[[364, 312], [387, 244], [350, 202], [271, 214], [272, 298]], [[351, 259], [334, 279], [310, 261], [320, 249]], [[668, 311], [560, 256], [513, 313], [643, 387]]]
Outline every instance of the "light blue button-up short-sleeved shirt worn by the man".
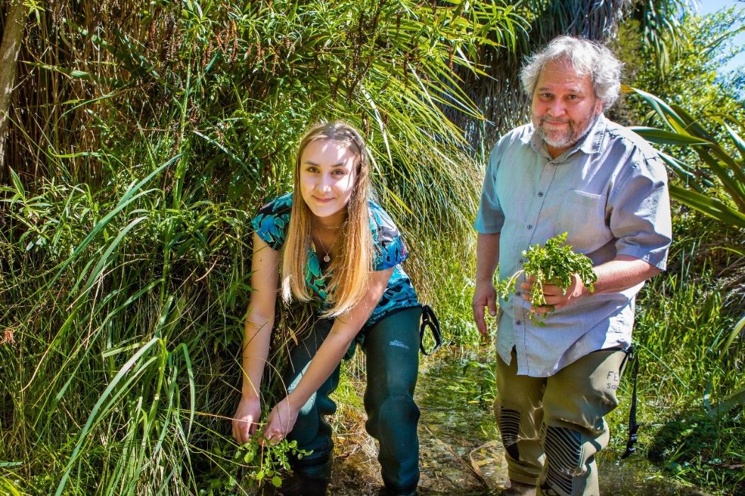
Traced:
[[[657, 152], [603, 115], [557, 158], [533, 129], [527, 124], [504, 135], [486, 167], [474, 227], [501, 233], [500, 279], [522, 269], [521, 252], [529, 245], [564, 231], [574, 251], [594, 265], [629, 255], [664, 270], [670, 200]], [[545, 327], [528, 319], [530, 303], [519, 294], [500, 299], [497, 352], [509, 364], [515, 347], [519, 374], [547, 377], [590, 352], [627, 347], [641, 286], [583, 297], [548, 314]]]

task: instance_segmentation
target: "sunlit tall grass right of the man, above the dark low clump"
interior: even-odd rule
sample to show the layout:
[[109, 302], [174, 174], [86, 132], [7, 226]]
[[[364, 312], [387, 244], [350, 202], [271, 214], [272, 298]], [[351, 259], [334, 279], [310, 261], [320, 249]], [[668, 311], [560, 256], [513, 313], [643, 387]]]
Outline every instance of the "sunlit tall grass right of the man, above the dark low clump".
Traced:
[[683, 398], [703, 399], [708, 391], [714, 402], [735, 393], [745, 379], [745, 343], [730, 339], [742, 311], [743, 256], [732, 248], [741, 231], [712, 228], [685, 207], [678, 206], [675, 217], [668, 271], [647, 283], [638, 298], [643, 311], [635, 338], [648, 361], [685, 376], [668, 376]]

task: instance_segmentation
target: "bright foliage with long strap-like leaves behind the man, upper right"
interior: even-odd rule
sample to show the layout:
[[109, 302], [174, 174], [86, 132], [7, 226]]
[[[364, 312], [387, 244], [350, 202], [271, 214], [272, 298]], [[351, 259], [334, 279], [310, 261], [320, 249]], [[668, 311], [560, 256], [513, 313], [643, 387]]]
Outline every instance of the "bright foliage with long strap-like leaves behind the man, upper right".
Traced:
[[641, 124], [637, 132], [667, 152], [663, 158], [676, 176], [671, 196], [739, 228], [745, 226], [745, 108], [735, 74], [717, 68], [745, 50], [732, 44], [744, 21], [745, 10], [734, 7], [710, 16], [685, 13], [674, 34], [661, 37], [674, 46], [665, 71], [642, 63], [653, 48], [630, 39], [633, 27], [622, 27], [618, 42], [630, 84], [640, 88], [622, 117]]

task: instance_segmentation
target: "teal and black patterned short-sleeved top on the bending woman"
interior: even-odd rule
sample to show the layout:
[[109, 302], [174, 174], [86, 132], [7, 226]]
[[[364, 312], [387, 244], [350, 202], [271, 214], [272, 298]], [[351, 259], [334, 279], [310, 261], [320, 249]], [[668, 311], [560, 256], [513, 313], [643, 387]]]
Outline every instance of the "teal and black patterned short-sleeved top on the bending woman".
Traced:
[[[404, 240], [386, 211], [375, 202], [370, 201], [369, 205], [370, 231], [373, 233], [375, 247], [373, 269], [384, 271], [393, 268], [393, 274], [365, 326], [372, 326], [393, 310], [419, 306], [411, 280], [401, 268], [401, 263], [409, 256]], [[291, 210], [292, 193], [285, 193], [261, 207], [251, 221], [256, 234], [273, 250], [279, 250], [285, 244]], [[316, 295], [321, 308], [325, 305], [327, 296], [326, 277], [323, 274], [325, 268], [326, 264], [320, 262], [313, 246], [309, 245], [305, 283]]]

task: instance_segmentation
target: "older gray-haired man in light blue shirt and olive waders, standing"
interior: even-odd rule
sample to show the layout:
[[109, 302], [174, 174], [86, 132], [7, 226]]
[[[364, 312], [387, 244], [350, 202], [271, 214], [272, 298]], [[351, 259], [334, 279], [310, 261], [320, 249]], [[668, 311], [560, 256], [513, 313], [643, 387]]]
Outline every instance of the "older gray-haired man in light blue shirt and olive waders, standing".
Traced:
[[[473, 312], [497, 315], [497, 263], [507, 279], [522, 251], [568, 232], [595, 267], [595, 292], [532, 280], [500, 300], [494, 410], [507, 451], [507, 495], [598, 495], [595, 454], [609, 440], [603, 416], [631, 344], [634, 297], [665, 269], [671, 240], [665, 168], [643, 139], [603, 116], [620, 88], [621, 62], [601, 45], [561, 36], [522, 70], [531, 123], [504, 135], [489, 155], [478, 231]], [[536, 326], [530, 312], [545, 314]]]

